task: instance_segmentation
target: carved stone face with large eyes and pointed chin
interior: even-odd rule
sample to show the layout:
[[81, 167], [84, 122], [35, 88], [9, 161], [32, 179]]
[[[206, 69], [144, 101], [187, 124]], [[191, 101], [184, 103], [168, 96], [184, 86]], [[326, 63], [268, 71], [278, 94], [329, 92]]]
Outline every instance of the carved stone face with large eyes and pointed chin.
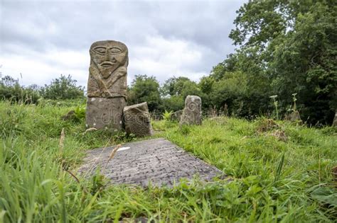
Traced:
[[127, 53], [126, 45], [113, 40], [94, 42], [90, 47], [91, 62], [96, 64], [104, 79], [118, 67], [127, 65]]

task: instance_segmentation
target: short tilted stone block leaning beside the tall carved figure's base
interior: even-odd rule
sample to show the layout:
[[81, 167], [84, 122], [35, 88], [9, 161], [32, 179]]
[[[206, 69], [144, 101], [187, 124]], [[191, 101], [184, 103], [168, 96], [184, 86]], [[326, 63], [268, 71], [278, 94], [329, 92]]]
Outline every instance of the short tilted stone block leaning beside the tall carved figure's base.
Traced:
[[124, 107], [123, 113], [127, 134], [133, 134], [137, 137], [153, 135], [149, 108], [146, 102]]

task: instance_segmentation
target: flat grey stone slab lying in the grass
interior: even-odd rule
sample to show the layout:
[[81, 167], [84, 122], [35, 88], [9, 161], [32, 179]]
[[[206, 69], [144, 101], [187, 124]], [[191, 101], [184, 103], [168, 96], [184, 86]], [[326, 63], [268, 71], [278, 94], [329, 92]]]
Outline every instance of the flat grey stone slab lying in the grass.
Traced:
[[181, 178], [191, 179], [195, 175], [202, 181], [224, 176], [215, 166], [163, 138], [124, 144], [107, 164], [112, 149], [114, 147], [87, 151], [79, 172], [95, 173], [100, 166], [102, 174], [112, 183], [147, 186], [151, 181], [152, 185], [169, 187], [178, 184]]

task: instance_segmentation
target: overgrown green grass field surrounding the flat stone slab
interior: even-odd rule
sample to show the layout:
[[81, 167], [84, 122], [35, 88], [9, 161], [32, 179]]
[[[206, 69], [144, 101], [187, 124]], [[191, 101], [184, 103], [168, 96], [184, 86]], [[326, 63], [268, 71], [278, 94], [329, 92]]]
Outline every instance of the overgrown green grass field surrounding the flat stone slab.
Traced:
[[[137, 188], [107, 185], [99, 173], [77, 175], [87, 149], [139, 140], [85, 132], [84, 108], [73, 101], [0, 102], [0, 222], [336, 222], [336, 128], [267, 118], [215, 117], [181, 129], [154, 121], [154, 137], [228, 178]], [[75, 115], [64, 117], [70, 110]]]

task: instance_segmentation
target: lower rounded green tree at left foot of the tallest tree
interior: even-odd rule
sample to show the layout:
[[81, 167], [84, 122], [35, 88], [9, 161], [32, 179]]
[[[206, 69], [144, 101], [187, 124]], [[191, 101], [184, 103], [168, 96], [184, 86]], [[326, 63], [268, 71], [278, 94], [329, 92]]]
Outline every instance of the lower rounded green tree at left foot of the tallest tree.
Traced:
[[[228, 105], [230, 114], [250, 118], [267, 114], [270, 80], [263, 72], [256, 50], [237, 50], [224, 62], [213, 67], [210, 76], [204, 77], [211, 86], [201, 94], [205, 108], [223, 108]], [[200, 81], [200, 84], [203, 84]]]

